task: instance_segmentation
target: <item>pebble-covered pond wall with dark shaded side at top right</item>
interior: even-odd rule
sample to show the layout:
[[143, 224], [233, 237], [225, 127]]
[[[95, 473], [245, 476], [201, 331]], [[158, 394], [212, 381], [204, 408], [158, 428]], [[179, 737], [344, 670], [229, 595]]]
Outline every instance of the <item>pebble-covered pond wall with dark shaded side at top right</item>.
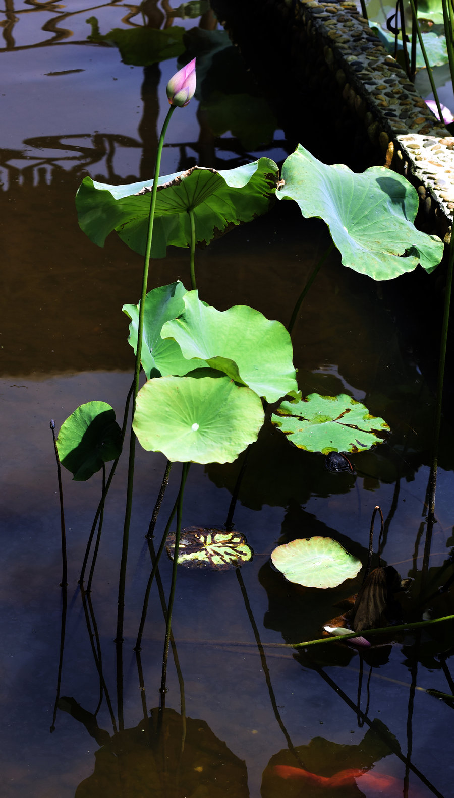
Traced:
[[[234, 41], [241, 38], [228, 18], [230, 3], [212, 0], [212, 5]], [[292, 72], [303, 70], [307, 78], [310, 69], [315, 70], [312, 80], [320, 85], [330, 73], [370, 142], [381, 148], [385, 166], [415, 185], [423, 211], [418, 226], [448, 241], [454, 214], [454, 136], [428, 109], [355, 3], [248, 0], [247, 5], [252, 14], [260, 14], [274, 37], [279, 27], [285, 31]], [[243, 49], [241, 41], [237, 43]]]

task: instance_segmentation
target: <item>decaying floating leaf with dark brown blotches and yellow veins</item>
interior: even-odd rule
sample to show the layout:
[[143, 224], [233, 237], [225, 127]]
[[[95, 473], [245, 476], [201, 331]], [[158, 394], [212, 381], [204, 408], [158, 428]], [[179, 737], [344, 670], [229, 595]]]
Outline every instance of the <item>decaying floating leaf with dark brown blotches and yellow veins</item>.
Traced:
[[[175, 554], [175, 534], [168, 535], [167, 552], [170, 559]], [[252, 549], [244, 535], [226, 532], [225, 529], [191, 527], [183, 529], [180, 537], [177, 563], [190, 568], [214, 568], [227, 571], [252, 559]]]

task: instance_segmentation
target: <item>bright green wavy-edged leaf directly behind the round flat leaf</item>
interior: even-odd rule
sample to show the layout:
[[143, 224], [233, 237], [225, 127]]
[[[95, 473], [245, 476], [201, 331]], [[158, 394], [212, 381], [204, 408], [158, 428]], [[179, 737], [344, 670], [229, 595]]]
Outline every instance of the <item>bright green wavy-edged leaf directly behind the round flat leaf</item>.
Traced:
[[269, 402], [298, 391], [291, 338], [281, 322], [247, 305], [223, 311], [205, 306], [197, 291], [183, 301], [184, 313], [166, 322], [161, 335], [175, 338], [185, 358], [207, 361]]

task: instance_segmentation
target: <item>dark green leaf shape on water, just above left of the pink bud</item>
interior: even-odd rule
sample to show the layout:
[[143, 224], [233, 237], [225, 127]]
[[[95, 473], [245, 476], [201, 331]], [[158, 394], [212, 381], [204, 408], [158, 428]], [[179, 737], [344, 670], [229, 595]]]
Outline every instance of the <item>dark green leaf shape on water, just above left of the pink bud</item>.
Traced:
[[164, 30], [156, 28], [114, 28], [109, 34], [100, 33], [96, 17], [87, 19], [92, 26], [89, 41], [99, 41], [118, 47], [124, 64], [151, 66], [168, 58], [177, 58], [184, 53], [184, 28], [171, 26]]

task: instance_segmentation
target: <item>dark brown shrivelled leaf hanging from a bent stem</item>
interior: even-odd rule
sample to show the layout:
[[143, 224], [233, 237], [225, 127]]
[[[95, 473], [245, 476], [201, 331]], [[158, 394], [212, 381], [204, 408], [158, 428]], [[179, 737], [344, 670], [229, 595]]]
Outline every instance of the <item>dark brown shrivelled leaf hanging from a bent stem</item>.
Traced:
[[392, 565], [374, 568], [358, 592], [353, 609], [345, 615], [355, 632], [388, 626], [398, 605], [394, 593], [401, 589], [401, 577]]

